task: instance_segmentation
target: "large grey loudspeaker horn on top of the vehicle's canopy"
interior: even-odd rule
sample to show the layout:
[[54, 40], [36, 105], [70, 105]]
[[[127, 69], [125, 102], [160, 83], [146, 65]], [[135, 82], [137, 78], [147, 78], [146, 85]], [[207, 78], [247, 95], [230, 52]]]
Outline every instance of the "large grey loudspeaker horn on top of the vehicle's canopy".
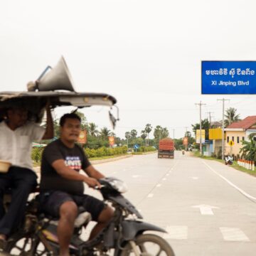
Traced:
[[57, 65], [52, 68], [48, 73], [46, 71], [50, 67], [48, 66], [42, 75], [36, 81], [36, 88], [39, 91], [49, 90], [69, 90], [74, 92], [73, 80], [71, 78], [68, 66], [65, 63], [63, 56], [61, 56]]

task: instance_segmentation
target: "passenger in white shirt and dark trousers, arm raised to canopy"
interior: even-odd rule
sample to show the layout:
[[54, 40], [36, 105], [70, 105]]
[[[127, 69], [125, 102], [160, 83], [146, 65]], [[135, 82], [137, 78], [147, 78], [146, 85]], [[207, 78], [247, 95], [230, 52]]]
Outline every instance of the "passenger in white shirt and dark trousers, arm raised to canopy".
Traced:
[[[50, 106], [46, 106], [46, 129], [28, 121], [25, 107], [10, 107], [0, 123], [0, 159], [9, 161], [7, 173], [0, 173], [0, 247], [6, 238], [18, 227], [25, 213], [29, 193], [36, 187], [36, 174], [31, 161], [31, 148], [34, 140], [53, 137], [53, 119]], [[11, 204], [5, 213], [3, 197], [11, 188]]]

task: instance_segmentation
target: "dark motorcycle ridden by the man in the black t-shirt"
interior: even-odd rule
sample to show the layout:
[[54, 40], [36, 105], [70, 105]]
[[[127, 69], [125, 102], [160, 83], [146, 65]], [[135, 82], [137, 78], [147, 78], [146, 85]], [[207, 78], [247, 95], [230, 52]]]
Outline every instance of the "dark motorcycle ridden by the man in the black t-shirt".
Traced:
[[[123, 181], [109, 177], [100, 179], [100, 184], [101, 188], [98, 190], [104, 201], [114, 208], [114, 217], [95, 238], [84, 241], [80, 235], [90, 223], [90, 213], [80, 209], [70, 242], [70, 255], [174, 256], [169, 243], [154, 233], [166, 233], [166, 230], [145, 223], [141, 213], [122, 196], [127, 191]], [[41, 213], [38, 204], [37, 197], [28, 203], [23, 228], [11, 235], [4, 253], [26, 256], [58, 255], [58, 220]]]

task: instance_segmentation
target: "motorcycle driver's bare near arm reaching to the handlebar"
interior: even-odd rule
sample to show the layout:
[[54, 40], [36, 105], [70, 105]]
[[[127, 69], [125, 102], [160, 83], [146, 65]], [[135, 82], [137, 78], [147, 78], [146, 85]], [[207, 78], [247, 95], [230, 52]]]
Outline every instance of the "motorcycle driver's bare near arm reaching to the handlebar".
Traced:
[[87, 185], [90, 186], [91, 188], [94, 188], [95, 186], [100, 187], [100, 183], [97, 181], [96, 178], [87, 177], [82, 174], [79, 174], [78, 171], [75, 171], [70, 167], [66, 166], [65, 161], [63, 159], [53, 161], [52, 166], [63, 178], [67, 178], [73, 181], [83, 181], [87, 183]]

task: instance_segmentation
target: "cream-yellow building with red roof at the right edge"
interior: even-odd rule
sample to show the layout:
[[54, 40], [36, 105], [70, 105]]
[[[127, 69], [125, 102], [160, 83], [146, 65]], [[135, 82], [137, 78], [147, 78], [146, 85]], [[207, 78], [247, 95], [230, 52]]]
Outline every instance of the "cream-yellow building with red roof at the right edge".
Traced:
[[242, 141], [247, 140], [250, 133], [256, 132], [256, 116], [246, 117], [233, 122], [225, 128], [225, 154], [238, 156]]

